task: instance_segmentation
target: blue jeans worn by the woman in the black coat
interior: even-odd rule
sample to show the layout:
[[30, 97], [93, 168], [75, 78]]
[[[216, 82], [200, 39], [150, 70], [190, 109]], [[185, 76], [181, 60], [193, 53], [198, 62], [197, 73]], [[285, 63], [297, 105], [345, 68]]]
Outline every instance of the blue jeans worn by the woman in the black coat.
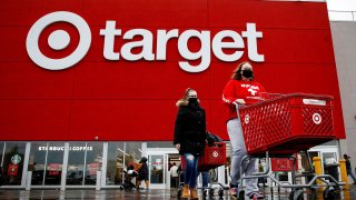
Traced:
[[191, 153], [184, 154], [186, 160], [185, 166], [185, 184], [189, 184], [189, 188], [196, 188], [198, 178], [198, 161], [199, 157]]

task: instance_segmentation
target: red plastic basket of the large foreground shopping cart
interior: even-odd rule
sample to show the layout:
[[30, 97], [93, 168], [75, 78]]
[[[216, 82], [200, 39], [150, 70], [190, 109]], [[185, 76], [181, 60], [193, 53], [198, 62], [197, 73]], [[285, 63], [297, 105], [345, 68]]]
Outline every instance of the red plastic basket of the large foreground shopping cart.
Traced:
[[239, 116], [249, 154], [291, 154], [336, 139], [333, 98], [284, 94], [241, 107]]

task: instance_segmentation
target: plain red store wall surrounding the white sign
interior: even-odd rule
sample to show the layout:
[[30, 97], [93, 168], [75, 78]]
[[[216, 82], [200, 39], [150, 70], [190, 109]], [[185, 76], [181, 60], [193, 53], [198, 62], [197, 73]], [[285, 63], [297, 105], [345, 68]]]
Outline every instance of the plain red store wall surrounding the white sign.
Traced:
[[[53, 11], [81, 16], [91, 29], [91, 47], [72, 68], [50, 71], [34, 64], [26, 51], [31, 26]], [[176, 101], [195, 88], [207, 110], [208, 129], [228, 139], [221, 91], [237, 62], [211, 52], [200, 73], [181, 70], [177, 39], [169, 41], [166, 61], [108, 61], [103, 58], [107, 20], [122, 32], [148, 29], [246, 31], [256, 23], [264, 37], [254, 63], [256, 78], [270, 92], [306, 92], [335, 98], [335, 129], [345, 138], [340, 97], [326, 3], [258, 0], [48, 0], [0, 1], [0, 140], [171, 140]], [[61, 52], [46, 44], [63, 28], [71, 43]], [[40, 48], [51, 58], [70, 54], [78, 43], [73, 27], [58, 23], [41, 34]], [[137, 39], [139, 40], [139, 39]], [[115, 49], [125, 41], [117, 38]], [[245, 39], [246, 43], [246, 39]], [[190, 41], [198, 50], [200, 43]], [[246, 49], [246, 48], [245, 48]]]

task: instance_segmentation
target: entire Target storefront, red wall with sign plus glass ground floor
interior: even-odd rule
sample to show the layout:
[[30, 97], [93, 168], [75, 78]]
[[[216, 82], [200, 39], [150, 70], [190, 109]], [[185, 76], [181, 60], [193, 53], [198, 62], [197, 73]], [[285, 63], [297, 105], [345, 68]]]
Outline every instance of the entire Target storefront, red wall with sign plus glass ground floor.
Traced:
[[[208, 130], [228, 141], [221, 92], [243, 61], [268, 92], [333, 96], [334, 131], [345, 138], [325, 2], [24, 0], [0, 8], [2, 188], [24, 188], [30, 173], [33, 189], [119, 188], [127, 163], [144, 156], [151, 188], [169, 187], [169, 164], [179, 162], [177, 100], [197, 90]], [[337, 158], [333, 149], [318, 153]], [[228, 171], [214, 179], [227, 184]]]

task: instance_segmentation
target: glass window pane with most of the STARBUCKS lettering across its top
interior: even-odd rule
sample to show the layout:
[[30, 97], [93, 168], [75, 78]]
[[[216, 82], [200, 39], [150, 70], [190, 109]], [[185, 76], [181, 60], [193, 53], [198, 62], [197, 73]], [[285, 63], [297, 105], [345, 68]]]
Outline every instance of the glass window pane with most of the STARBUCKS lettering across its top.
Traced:
[[46, 163], [46, 186], [59, 186], [62, 174], [65, 143], [50, 142], [48, 144]]

